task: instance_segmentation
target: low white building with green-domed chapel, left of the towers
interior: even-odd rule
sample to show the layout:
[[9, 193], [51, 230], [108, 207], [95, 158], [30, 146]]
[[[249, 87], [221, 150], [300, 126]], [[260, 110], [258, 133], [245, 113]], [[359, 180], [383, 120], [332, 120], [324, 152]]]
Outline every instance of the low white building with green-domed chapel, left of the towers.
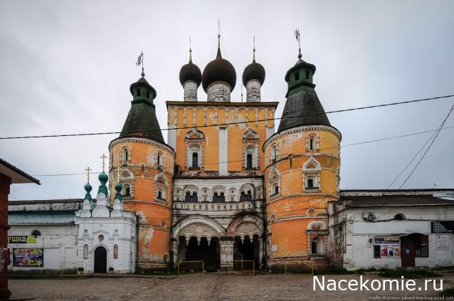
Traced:
[[96, 201], [86, 184], [85, 199], [9, 202], [9, 273], [134, 273], [137, 216], [120, 193], [109, 204], [107, 175], [100, 181]]

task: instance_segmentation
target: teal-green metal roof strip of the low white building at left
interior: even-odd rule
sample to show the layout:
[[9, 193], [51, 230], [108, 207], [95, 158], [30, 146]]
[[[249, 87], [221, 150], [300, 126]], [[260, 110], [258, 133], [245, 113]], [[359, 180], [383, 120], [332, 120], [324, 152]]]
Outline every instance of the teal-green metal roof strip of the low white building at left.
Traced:
[[74, 223], [74, 210], [9, 211], [8, 224], [14, 223]]

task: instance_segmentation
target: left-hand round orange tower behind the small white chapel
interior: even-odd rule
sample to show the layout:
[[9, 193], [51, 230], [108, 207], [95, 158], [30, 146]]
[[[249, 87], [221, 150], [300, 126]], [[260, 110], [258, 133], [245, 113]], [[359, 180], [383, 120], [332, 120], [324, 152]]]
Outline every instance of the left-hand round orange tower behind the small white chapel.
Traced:
[[[167, 268], [170, 260], [171, 194], [175, 152], [162, 137], [153, 100], [156, 91], [143, 77], [133, 83], [131, 109], [120, 137], [112, 140], [110, 196], [117, 175], [125, 210], [138, 216], [137, 268]], [[136, 258], [133, 254], [132, 258]]]

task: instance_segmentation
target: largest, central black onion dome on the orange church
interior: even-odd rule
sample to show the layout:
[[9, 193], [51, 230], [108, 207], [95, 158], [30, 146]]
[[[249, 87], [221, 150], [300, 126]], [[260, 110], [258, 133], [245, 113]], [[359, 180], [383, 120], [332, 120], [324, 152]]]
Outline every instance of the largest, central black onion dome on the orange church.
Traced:
[[208, 85], [214, 83], [218, 80], [228, 83], [231, 86], [231, 90], [235, 88], [236, 85], [236, 71], [233, 68], [233, 65], [228, 61], [222, 58], [221, 49], [218, 48], [218, 55], [215, 60], [211, 60], [204, 69], [202, 73], [202, 87], [205, 92], [208, 88]]

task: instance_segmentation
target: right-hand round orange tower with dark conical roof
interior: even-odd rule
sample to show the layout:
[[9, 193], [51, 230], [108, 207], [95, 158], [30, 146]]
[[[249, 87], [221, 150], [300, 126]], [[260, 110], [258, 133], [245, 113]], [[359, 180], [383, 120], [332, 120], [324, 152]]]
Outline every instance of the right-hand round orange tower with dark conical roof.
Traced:
[[315, 93], [315, 65], [287, 71], [287, 101], [265, 152], [268, 265], [327, 264], [327, 204], [339, 198], [340, 132]]

